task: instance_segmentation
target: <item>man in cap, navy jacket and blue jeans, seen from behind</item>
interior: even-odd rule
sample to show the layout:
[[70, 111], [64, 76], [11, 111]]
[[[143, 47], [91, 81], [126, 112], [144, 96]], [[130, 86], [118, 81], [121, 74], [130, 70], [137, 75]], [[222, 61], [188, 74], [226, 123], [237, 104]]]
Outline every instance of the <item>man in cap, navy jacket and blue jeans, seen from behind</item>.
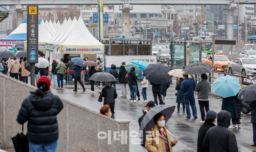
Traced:
[[194, 100], [194, 88], [196, 87], [196, 82], [194, 82], [194, 79], [188, 78], [188, 75], [183, 74], [183, 82], [181, 83], [180, 89], [183, 90], [183, 96], [184, 96], [184, 101], [186, 105], [186, 113], [187, 117], [190, 118], [190, 106], [193, 112], [193, 117], [197, 117], [196, 113], [196, 102]]

